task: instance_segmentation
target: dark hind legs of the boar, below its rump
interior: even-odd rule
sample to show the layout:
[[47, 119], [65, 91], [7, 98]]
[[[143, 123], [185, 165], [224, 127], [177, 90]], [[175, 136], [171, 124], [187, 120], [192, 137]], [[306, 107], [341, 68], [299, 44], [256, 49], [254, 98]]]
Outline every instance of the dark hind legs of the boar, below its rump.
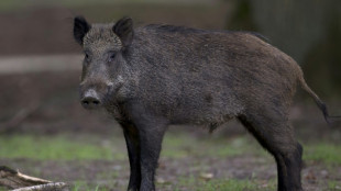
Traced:
[[241, 123], [267, 149], [277, 164], [278, 191], [301, 191], [300, 170], [302, 147], [294, 138], [286, 117], [258, 115], [239, 116]]

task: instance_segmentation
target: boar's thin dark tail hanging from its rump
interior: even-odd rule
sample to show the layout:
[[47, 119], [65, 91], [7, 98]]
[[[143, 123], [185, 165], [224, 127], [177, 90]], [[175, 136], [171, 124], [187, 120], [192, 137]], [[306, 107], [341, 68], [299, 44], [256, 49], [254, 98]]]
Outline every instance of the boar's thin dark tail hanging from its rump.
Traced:
[[323, 116], [324, 116], [324, 120], [328, 124], [331, 124], [331, 121], [330, 119], [333, 119], [333, 117], [341, 117], [341, 116], [330, 116], [329, 113], [328, 113], [328, 109], [327, 109], [327, 105], [326, 103], [322, 102], [322, 100], [310, 89], [310, 87], [307, 85], [305, 78], [304, 78], [304, 75], [302, 75], [302, 71], [300, 70], [300, 74], [298, 75], [298, 80], [299, 80], [299, 83], [301, 86], [301, 88], [308, 92], [310, 94], [310, 97], [312, 97], [314, 101], [316, 102], [316, 104], [318, 105], [318, 108], [322, 111], [323, 113]]

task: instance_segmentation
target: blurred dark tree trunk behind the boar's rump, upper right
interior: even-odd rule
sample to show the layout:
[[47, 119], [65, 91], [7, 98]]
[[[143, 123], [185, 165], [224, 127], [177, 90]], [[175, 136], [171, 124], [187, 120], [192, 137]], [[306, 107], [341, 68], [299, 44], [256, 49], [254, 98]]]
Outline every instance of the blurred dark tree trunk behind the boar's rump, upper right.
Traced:
[[241, 0], [227, 29], [257, 31], [302, 66], [321, 97], [341, 93], [341, 1]]

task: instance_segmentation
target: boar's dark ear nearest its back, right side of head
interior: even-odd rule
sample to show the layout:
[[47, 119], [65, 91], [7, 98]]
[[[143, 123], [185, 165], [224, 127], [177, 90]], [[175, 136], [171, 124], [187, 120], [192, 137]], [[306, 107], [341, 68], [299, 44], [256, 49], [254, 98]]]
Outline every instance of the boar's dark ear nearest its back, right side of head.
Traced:
[[113, 26], [112, 31], [117, 34], [127, 47], [133, 41], [133, 20], [131, 18], [120, 19]]

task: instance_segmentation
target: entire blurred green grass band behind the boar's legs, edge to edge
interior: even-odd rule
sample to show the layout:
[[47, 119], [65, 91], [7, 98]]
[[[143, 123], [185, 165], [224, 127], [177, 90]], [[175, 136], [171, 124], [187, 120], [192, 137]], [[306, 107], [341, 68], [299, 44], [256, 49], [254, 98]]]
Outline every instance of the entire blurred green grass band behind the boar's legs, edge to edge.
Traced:
[[[82, 135], [84, 136], [84, 135]], [[103, 144], [105, 143], [105, 144]], [[100, 136], [73, 137], [66, 135], [11, 135], [0, 136], [1, 158], [29, 159], [127, 159], [122, 136], [103, 139]], [[328, 142], [304, 145], [304, 159], [327, 165], [341, 165], [341, 146]], [[251, 136], [222, 139], [195, 137], [187, 134], [167, 134], [163, 143], [162, 157], [233, 157], [254, 155], [270, 157]]]

